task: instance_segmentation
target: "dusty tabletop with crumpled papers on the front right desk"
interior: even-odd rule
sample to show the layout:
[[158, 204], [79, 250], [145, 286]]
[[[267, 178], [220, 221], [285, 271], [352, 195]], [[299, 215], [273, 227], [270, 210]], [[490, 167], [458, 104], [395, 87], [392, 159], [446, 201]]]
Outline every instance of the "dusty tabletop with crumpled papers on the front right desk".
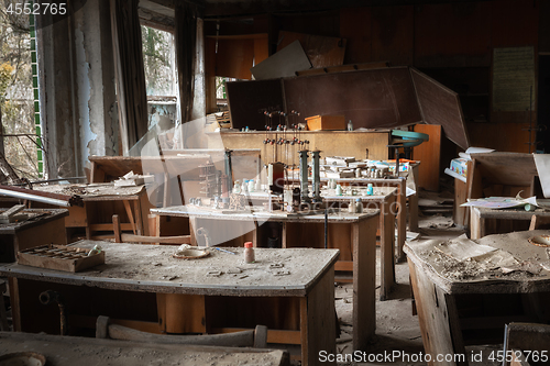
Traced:
[[[407, 242], [405, 253], [409, 260], [422, 268], [435, 284], [446, 292], [537, 292], [550, 291], [550, 247], [528, 242], [535, 235], [548, 235], [544, 230], [520, 231], [487, 235], [469, 240], [464, 235], [454, 240]], [[477, 246], [476, 246], [477, 245]], [[449, 255], [460, 248], [464, 258]], [[474, 256], [477, 248], [495, 251]]]

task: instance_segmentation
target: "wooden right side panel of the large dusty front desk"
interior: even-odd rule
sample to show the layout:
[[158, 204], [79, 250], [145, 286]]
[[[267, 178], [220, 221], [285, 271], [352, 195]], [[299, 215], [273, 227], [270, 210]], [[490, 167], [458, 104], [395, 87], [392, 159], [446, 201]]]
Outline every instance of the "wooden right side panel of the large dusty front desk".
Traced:
[[336, 354], [334, 268], [331, 267], [306, 298], [300, 299], [302, 365], [336, 365], [321, 363], [319, 352]]

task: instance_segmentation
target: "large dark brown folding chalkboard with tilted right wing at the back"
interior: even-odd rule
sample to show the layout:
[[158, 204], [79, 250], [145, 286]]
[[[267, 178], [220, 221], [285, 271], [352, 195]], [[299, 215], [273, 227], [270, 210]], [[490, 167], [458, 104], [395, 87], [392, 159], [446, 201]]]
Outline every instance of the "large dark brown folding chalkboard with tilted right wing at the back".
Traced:
[[227, 91], [233, 129], [263, 131], [264, 111], [294, 110], [301, 118], [343, 114], [355, 130], [439, 124], [457, 145], [470, 146], [459, 95], [413, 67], [231, 81]]

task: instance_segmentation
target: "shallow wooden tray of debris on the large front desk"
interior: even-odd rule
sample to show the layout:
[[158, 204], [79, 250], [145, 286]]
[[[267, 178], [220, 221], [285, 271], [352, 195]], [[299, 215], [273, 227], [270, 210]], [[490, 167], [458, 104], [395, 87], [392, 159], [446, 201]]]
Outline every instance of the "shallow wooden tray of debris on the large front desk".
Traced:
[[90, 249], [66, 245], [41, 245], [18, 253], [20, 265], [56, 269], [64, 271], [79, 271], [100, 264], [105, 264], [105, 252], [88, 256]]

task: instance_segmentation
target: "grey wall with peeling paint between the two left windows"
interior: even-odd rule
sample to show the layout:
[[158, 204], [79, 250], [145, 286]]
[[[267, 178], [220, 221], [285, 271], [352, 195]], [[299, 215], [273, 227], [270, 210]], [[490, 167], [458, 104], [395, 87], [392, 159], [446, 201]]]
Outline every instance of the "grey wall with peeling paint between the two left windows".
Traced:
[[51, 178], [84, 175], [90, 155], [118, 155], [109, 0], [75, 2], [70, 19], [38, 34]]

